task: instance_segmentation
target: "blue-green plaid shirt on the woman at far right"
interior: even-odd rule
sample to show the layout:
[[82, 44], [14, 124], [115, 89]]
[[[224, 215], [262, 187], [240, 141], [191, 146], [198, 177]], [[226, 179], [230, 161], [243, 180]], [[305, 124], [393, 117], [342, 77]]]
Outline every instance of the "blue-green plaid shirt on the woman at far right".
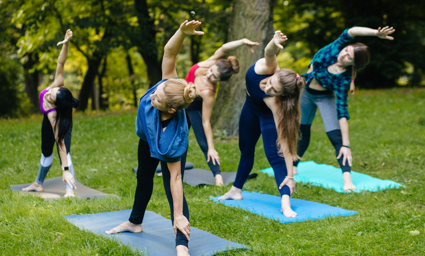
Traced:
[[334, 91], [337, 101], [337, 118], [350, 119], [348, 115], [348, 91], [350, 89], [351, 74], [348, 70], [339, 74], [332, 74], [328, 71], [328, 66], [337, 61], [338, 54], [349, 43], [354, 40], [354, 37], [348, 35], [348, 28], [344, 30], [343, 34], [338, 37], [334, 42], [321, 48], [312, 59], [313, 71], [311, 73], [304, 73], [302, 76], [306, 79], [306, 86], [308, 87], [315, 78], [317, 82], [325, 89]]

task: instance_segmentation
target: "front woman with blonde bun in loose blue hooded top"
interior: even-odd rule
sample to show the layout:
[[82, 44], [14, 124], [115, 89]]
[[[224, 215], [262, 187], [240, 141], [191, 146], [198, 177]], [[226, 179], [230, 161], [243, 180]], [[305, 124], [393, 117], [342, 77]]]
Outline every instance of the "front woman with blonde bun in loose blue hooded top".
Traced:
[[171, 222], [176, 234], [178, 256], [188, 256], [190, 235], [189, 209], [183, 194], [183, 174], [188, 145], [188, 127], [184, 108], [198, 90], [194, 84], [177, 78], [176, 56], [186, 35], [202, 35], [195, 31], [199, 21], [184, 21], [164, 48], [162, 80], [140, 98], [136, 117], [136, 134], [140, 137], [137, 186], [133, 211], [127, 222], [106, 231], [142, 232], [142, 221], [153, 190], [156, 166], [161, 162], [165, 194], [170, 204]]

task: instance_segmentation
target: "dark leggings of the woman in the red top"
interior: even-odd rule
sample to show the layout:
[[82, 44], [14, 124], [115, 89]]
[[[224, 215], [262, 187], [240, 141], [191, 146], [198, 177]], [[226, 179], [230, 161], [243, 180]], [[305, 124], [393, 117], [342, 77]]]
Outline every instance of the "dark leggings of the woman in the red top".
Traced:
[[[186, 119], [187, 119], [187, 125], [192, 126], [193, 132], [195, 133], [196, 140], [198, 141], [199, 147], [201, 148], [202, 152], [204, 152], [205, 159], [208, 159], [207, 153], [208, 153], [208, 143], [207, 143], [207, 137], [205, 136], [204, 127], [202, 126], [202, 112], [201, 110], [186, 110]], [[212, 174], [217, 175], [220, 174], [220, 165], [218, 165], [217, 162], [215, 162], [215, 165], [212, 163], [212, 159], [210, 159], [210, 162], [207, 162], [208, 166], [210, 166], [210, 169], [212, 171]]]

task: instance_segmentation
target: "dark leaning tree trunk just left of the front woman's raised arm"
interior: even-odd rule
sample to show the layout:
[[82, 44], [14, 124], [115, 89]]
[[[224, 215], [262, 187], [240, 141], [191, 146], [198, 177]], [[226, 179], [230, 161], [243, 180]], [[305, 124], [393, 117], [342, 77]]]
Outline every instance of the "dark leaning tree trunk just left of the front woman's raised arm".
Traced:
[[155, 21], [149, 16], [146, 0], [134, 0], [134, 7], [138, 18], [139, 28], [143, 35], [143, 42], [137, 45], [138, 51], [146, 63], [149, 87], [153, 87], [162, 79], [161, 61], [156, 48]]

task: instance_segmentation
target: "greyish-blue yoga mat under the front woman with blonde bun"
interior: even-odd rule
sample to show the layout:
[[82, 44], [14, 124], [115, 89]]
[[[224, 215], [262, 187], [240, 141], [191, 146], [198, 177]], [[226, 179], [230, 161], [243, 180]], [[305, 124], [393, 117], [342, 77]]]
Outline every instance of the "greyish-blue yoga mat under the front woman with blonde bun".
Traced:
[[[65, 218], [81, 229], [87, 229], [110, 239], [116, 237], [123, 244], [134, 248], [138, 252], [145, 253], [143, 255], [176, 255], [176, 237], [171, 220], [152, 211], [145, 212], [142, 224], [143, 232], [141, 233], [105, 234], [105, 231], [126, 222], [130, 213], [131, 209], [86, 215], [74, 214], [65, 216]], [[189, 253], [191, 256], [214, 255], [215, 253], [236, 248], [249, 249], [245, 245], [222, 239], [198, 228], [190, 228]]]

